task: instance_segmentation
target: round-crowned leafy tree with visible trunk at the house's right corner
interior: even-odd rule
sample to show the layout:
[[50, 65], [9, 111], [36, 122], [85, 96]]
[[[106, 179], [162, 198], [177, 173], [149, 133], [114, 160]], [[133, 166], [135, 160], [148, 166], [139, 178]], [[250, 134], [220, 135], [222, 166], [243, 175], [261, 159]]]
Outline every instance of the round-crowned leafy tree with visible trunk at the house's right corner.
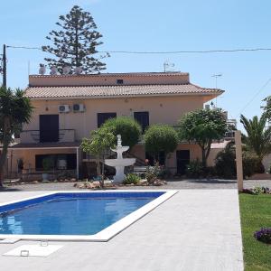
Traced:
[[220, 140], [226, 132], [226, 117], [218, 108], [196, 110], [180, 120], [180, 139], [200, 145], [203, 166], [206, 166], [212, 141]]

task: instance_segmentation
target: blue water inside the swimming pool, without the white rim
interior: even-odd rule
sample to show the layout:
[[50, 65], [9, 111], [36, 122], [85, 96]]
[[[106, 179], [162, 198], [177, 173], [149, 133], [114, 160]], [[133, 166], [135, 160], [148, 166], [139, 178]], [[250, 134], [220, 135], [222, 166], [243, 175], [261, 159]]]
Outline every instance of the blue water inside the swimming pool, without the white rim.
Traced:
[[163, 193], [67, 192], [0, 206], [0, 234], [96, 234]]

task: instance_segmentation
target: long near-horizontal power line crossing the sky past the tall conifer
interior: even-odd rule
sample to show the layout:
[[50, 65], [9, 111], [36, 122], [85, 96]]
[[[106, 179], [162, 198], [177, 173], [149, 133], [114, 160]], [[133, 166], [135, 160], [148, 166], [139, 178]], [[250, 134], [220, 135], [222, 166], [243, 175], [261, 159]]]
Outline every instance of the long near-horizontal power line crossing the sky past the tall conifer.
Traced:
[[[7, 45], [7, 48], [41, 50], [41, 47], [27, 47]], [[178, 54], [178, 53], [220, 53], [220, 52], [238, 52], [238, 51], [271, 51], [271, 48], [248, 48], [248, 49], [230, 49], [230, 50], [207, 50], [207, 51], [98, 51], [109, 53], [125, 53], [125, 54]]]

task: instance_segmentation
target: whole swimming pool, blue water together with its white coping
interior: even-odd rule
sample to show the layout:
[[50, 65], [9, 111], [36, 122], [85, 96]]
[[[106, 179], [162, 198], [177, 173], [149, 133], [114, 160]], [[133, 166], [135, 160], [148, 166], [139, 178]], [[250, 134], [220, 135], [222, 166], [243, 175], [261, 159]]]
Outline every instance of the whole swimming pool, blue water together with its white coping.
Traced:
[[0, 238], [107, 241], [175, 192], [51, 192], [7, 202]]

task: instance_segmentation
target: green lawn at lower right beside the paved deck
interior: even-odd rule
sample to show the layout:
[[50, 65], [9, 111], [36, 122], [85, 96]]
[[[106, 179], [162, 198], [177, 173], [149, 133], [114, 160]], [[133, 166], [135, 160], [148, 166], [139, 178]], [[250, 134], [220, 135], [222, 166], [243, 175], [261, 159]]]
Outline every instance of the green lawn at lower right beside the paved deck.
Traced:
[[258, 229], [271, 228], [271, 195], [240, 193], [239, 203], [245, 270], [271, 270], [271, 245], [253, 236]]

